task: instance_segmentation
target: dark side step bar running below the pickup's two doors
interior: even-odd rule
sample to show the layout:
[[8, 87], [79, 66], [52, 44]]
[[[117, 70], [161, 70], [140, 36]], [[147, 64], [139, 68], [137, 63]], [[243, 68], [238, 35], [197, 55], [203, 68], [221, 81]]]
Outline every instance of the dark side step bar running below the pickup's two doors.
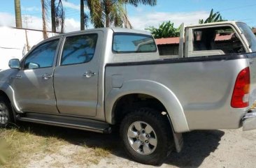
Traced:
[[17, 121], [26, 121], [31, 123], [42, 123], [46, 125], [55, 125], [66, 128], [75, 128], [79, 130], [89, 130], [99, 133], [111, 133], [111, 127], [108, 123], [94, 121], [90, 119], [80, 119], [70, 116], [57, 116], [50, 114], [27, 113], [24, 116], [17, 115]]

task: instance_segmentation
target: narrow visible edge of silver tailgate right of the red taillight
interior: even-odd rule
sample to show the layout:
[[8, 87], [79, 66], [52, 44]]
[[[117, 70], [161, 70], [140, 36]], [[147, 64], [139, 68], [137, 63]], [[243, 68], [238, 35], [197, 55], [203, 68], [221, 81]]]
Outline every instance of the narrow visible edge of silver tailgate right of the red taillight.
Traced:
[[248, 54], [250, 64], [250, 106], [256, 100], [256, 53]]

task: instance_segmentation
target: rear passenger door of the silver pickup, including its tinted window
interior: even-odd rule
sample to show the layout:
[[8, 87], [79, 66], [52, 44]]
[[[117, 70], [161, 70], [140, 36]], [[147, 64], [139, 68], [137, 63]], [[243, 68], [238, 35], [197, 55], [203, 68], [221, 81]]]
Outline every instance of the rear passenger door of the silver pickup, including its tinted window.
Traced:
[[102, 36], [101, 31], [66, 36], [54, 76], [60, 113], [96, 116]]

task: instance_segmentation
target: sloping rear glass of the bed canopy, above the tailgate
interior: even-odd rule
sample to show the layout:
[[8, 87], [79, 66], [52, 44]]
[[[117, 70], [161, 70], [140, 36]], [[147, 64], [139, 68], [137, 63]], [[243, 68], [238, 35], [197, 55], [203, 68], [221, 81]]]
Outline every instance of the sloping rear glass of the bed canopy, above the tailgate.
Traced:
[[236, 23], [236, 25], [239, 26], [239, 29], [242, 31], [243, 35], [246, 36], [250, 49], [252, 49], [253, 52], [256, 52], [256, 37], [253, 31], [245, 23]]

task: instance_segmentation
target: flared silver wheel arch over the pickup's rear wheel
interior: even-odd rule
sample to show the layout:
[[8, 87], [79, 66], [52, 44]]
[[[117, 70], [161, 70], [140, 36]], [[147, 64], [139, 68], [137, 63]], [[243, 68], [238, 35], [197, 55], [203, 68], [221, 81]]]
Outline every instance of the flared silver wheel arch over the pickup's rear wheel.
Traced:
[[120, 89], [112, 89], [106, 95], [105, 112], [106, 121], [108, 123], [113, 123], [113, 108], [115, 103], [118, 102], [122, 96], [133, 93], [146, 94], [162, 102], [169, 114], [175, 132], [190, 131], [183, 112], [183, 107], [180, 105], [176, 95], [163, 84], [145, 79], [134, 79], [124, 82]]

